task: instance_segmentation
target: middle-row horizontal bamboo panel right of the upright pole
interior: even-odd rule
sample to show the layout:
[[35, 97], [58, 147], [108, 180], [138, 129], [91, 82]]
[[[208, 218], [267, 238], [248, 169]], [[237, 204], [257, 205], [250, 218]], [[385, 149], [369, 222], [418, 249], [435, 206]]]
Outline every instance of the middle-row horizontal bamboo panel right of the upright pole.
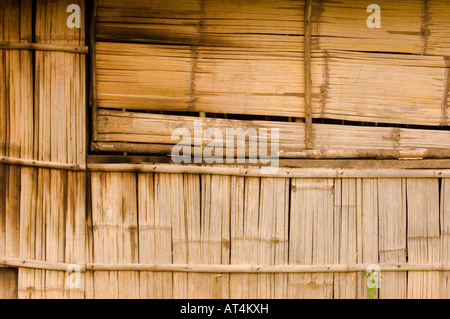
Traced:
[[327, 51], [318, 59], [313, 82], [322, 84], [313, 97], [314, 117], [449, 125], [444, 57]]

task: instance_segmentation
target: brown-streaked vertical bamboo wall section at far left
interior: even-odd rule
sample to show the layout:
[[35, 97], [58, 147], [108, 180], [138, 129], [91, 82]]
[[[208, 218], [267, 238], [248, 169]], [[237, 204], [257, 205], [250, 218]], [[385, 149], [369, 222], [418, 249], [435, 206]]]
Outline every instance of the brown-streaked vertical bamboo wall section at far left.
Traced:
[[[80, 29], [66, 26], [71, 3], [84, 9], [84, 1], [37, 1], [33, 19], [32, 1], [0, 2], [1, 41], [50, 48], [1, 50], [3, 157], [86, 164], [85, 57], [52, 51], [85, 43]], [[0, 256], [83, 263], [86, 173], [4, 164], [0, 172]], [[84, 296], [65, 289], [67, 276], [19, 268], [18, 297]]]

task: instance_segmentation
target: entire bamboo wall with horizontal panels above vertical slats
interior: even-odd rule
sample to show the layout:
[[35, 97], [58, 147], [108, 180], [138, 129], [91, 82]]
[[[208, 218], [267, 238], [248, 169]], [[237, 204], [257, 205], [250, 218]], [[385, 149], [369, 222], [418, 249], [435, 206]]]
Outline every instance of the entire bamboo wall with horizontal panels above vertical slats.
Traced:
[[[66, 27], [72, 3], [86, 14], [83, 0], [0, 1], [1, 298], [366, 298], [360, 272], [372, 263], [384, 277], [377, 298], [449, 297], [448, 159], [294, 160], [265, 177], [251, 167], [120, 165], [119, 156], [96, 163], [86, 146], [86, 28], [84, 18], [82, 29]], [[447, 2], [387, 10], [388, 26], [361, 41], [349, 12], [313, 1], [312, 116], [404, 125], [314, 122], [313, 149], [302, 120], [305, 2], [133, 3], [99, 1], [93, 151], [164, 153], [172, 130], [195, 119], [137, 110], [297, 118], [202, 118], [205, 129], [280, 128], [285, 157], [445, 157], [436, 150], [450, 148]], [[374, 70], [383, 71], [374, 79]], [[415, 77], [420, 85], [405, 85]], [[383, 104], [372, 93], [387, 87]], [[70, 264], [79, 288], [66, 286]]]

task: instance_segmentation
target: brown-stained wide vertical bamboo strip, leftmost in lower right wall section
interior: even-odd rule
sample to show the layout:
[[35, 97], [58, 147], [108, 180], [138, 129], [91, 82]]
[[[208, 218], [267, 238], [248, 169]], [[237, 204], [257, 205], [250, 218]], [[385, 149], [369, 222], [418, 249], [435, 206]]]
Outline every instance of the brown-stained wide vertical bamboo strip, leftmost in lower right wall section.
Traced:
[[[137, 263], [136, 180], [129, 173], [92, 174], [94, 260]], [[137, 298], [139, 276], [133, 272], [94, 273], [95, 298]]]

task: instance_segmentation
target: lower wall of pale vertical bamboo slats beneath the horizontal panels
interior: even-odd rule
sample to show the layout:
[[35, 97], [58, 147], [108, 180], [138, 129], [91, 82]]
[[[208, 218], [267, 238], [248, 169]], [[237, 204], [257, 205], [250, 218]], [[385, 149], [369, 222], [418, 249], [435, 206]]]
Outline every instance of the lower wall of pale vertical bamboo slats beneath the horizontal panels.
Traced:
[[[126, 253], [128, 263], [137, 263], [133, 256], [139, 255], [139, 263], [145, 264], [211, 266], [206, 273], [135, 271], [123, 287], [120, 278], [129, 272], [96, 271], [95, 297], [121, 297], [121, 289], [136, 296], [139, 289], [140, 298], [364, 299], [367, 281], [359, 272], [227, 274], [213, 267], [377, 264], [378, 256], [383, 262], [404, 263], [406, 251], [411, 263], [417, 262], [416, 256], [425, 263], [442, 261], [439, 253], [427, 253], [430, 245], [419, 243], [443, 243], [445, 229], [436, 228], [426, 236], [413, 234], [414, 229], [438, 224], [439, 211], [445, 216], [439, 196], [426, 197], [427, 205], [436, 209], [424, 217], [425, 224], [416, 216], [423, 208], [420, 196], [406, 197], [406, 192], [420, 191], [418, 187], [435, 193], [437, 178], [290, 180], [108, 172], [93, 173], [91, 178], [96, 260], [115, 262]], [[139, 204], [128, 218], [125, 208], [136, 209], [133, 192]], [[393, 215], [388, 213], [391, 208]], [[427, 261], [430, 258], [433, 261]], [[405, 271], [381, 275], [376, 298], [442, 298], [447, 293], [441, 279], [445, 272], [409, 271], [408, 280]]]

